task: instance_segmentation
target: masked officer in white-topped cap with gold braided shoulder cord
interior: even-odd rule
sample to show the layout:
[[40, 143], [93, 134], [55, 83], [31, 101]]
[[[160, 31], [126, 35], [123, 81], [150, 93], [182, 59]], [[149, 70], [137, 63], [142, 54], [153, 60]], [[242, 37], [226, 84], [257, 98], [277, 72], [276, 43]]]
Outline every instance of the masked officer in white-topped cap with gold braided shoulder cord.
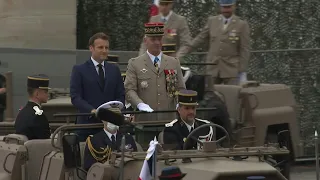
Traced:
[[[117, 121], [123, 119], [121, 110], [123, 104], [120, 101], [110, 101], [97, 108], [108, 109], [113, 113], [110, 119]], [[107, 119], [102, 120], [104, 129], [93, 136], [89, 136], [86, 141], [84, 150], [84, 168], [86, 171], [90, 169], [92, 164], [96, 162], [104, 163], [109, 160], [112, 151], [120, 151], [121, 139], [125, 136], [125, 148], [128, 151], [137, 151], [136, 143], [130, 134], [119, 132], [119, 127], [108, 122]]]

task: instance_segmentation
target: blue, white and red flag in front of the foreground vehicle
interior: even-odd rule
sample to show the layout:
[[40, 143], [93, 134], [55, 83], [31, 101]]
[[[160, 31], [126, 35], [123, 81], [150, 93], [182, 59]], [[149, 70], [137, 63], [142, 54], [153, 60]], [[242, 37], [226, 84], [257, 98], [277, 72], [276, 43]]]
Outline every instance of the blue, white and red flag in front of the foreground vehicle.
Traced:
[[150, 141], [149, 149], [147, 151], [146, 159], [143, 162], [142, 169], [139, 175], [138, 180], [151, 180], [152, 179], [152, 169], [154, 165], [153, 157], [158, 144], [157, 138], [154, 137], [154, 140]]

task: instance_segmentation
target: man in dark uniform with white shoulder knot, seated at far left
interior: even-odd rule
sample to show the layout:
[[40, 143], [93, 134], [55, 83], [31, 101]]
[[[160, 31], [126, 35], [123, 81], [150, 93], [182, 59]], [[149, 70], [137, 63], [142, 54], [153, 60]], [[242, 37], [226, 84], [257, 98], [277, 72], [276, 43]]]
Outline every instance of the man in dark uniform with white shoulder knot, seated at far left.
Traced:
[[49, 78], [46, 75], [28, 76], [29, 101], [20, 110], [14, 127], [16, 134], [22, 134], [31, 139], [50, 138], [49, 122], [41, 104], [48, 100]]

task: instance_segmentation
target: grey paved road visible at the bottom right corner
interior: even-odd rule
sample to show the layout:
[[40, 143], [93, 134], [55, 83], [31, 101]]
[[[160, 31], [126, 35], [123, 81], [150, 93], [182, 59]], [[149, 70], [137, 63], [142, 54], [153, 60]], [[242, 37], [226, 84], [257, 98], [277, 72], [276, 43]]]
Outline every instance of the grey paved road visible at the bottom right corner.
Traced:
[[316, 180], [315, 165], [311, 164], [292, 167], [290, 180]]

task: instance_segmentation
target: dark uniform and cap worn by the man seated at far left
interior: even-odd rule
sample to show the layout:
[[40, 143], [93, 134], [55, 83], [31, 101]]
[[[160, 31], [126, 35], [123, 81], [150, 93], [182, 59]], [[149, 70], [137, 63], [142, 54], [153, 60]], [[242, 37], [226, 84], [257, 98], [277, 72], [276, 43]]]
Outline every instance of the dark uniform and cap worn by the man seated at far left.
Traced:
[[[49, 89], [49, 79], [42, 76], [28, 77], [29, 88]], [[17, 115], [14, 124], [16, 134], [22, 134], [32, 139], [49, 139], [51, 132], [47, 117], [41, 110], [41, 105], [28, 101]]]

